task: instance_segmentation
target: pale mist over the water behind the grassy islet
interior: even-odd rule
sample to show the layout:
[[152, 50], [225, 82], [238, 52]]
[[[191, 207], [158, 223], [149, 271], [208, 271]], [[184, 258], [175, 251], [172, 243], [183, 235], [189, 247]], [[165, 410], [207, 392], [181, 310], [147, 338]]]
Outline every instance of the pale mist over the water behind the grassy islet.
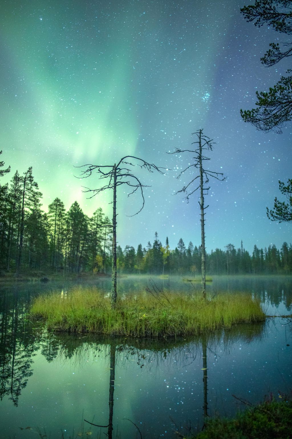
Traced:
[[[212, 281], [206, 283], [207, 295], [228, 292], [230, 294], [242, 292], [252, 294], [259, 298], [268, 315], [286, 315], [292, 309], [292, 276], [212, 276]], [[193, 281], [195, 280], [195, 281]], [[88, 283], [88, 281], [86, 282]], [[74, 282], [76, 284], [76, 282]], [[101, 277], [92, 280], [90, 284], [96, 285], [105, 292], [111, 290], [110, 277]], [[70, 289], [69, 282], [46, 285], [44, 291], [55, 288]], [[187, 293], [201, 295], [201, 277], [193, 276], [151, 276], [151, 275], [122, 275], [117, 278], [117, 291], [123, 295], [144, 294], [145, 289], [163, 288], [165, 292]]]

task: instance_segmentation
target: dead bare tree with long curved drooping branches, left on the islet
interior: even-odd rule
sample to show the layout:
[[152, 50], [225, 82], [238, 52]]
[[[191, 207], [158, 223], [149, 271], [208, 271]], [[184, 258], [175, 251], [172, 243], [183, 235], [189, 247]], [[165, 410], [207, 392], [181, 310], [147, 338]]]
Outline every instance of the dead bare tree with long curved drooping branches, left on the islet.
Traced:
[[[136, 163], [132, 163], [132, 161], [136, 161]], [[85, 167], [85, 170], [82, 172], [82, 178], [86, 178], [91, 176], [91, 174], [95, 171], [99, 174], [99, 180], [108, 180], [107, 183], [99, 187], [98, 189], [89, 189], [85, 187], [84, 192], [93, 192], [91, 195], [92, 198], [100, 192], [106, 191], [107, 189], [113, 190], [113, 262], [112, 262], [112, 291], [111, 291], [111, 304], [114, 307], [116, 304], [116, 189], [122, 184], [126, 184], [131, 188], [130, 193], [128, 193], [128, 197], [134, 194], [137, 191], [140, 191], [142, 197], [142, 206], [134, 215], [137, 215], [144, 207], [145, 199], [143, 193], [143, 187], [149, 187], [148, 185], [144, 185], [141, 183], [139, 178], [132, 173], [131, 167], [140, 166], [140, 168], [145, 168], [149, 172], [158, 171], [160, 174], [163, 174], [161, 167], [154, 165], [153, 163], [148, 163], [142, 158], [134, 157], [133, 155], [126, 155], [125, 157], [120, 159], [120, 162], [114, 165], [84, 165], [81, 167]]]

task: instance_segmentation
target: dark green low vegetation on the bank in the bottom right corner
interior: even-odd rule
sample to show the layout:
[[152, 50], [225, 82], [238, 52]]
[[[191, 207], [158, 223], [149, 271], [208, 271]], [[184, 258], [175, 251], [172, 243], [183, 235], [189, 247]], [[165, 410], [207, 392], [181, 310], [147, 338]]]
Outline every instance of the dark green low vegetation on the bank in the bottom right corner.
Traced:
[[[284, 397], [283, 397], [284, 399]], [[292, 438], [292, 399], [275, 399], [238, 412], [232, 419], [206, 421], [196, 439], [288, 439]], [[194, 439], [193, 438], [193, 439]]]

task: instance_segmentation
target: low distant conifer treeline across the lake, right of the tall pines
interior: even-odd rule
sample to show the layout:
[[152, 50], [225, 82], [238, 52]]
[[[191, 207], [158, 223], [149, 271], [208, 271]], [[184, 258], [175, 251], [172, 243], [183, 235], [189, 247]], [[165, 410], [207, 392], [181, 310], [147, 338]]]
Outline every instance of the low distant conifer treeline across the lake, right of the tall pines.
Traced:
[[[192, 273], [201, 274], [201, 246], [189, 243], [186, 248], [180, 238], [174, 250], [169, 249], [168, 239], [162, 246], [155, 234], [155, 240], [147, 248], [138, 245], [137, 251], [127, 246], [124, 251], [118, 248], [118, 270], [121, 273]], [[286, 242], [279, 251], [275, 245], [257, 248], [250, 255], [243, 248], [236, 249], [233, 244], [225, 250], [216, 248], [206, 253], [208, 274], [289, 274], [292, 273], [292, 246]]]

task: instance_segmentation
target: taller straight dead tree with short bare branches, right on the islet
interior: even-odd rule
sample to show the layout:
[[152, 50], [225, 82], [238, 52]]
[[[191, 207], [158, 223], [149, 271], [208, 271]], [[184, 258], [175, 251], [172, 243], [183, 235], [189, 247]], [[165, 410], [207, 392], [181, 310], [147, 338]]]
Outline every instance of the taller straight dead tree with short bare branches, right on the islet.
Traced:
[[[181, 152], [190, 152], [194, 153], [195, 156], [193, 157], [195, 159], [195, 162], [191, 165], [187, 166], [179, 175], [177, 178], [179, 179], [188, 169], [196, 168], [199, 169], [199, 175], [195, 176], [190, 183], [188, 183], [186, 186], [184, 186], [182, 189], [176, 192], [178, 194], [179, 192], [183, 192], [186, 194], [186, 201], [189, 202], [190, 196], [196, 192], [198, 189], [200, 189], [200, 209], [201, 209], [201, 272], [202, 272], [202, 279], [201, 279], [201, 292], [202, 292], [202, 298], [206, 298], [206, 261], [205, 261], [205, 210], [208, 206], [204, 205], [204, 195], [208, 194], [208, 191], [210, 189], [209, 186], [209, 179], [210, 177], [215, 178], [216, 180], [223, 181], [225, 180], [225, 177], [223, 177], [223, 174], [220, 172], [210, 171], [209, 169], [205, 169], [203, 167], [204, 160], [210, 160], [209, 157], [206, 157], [203, 155], [203, 151], [212, 151], [214, 142], [207, 136], [203, 134], [203, 130], [198, 130], [195, 133], [192, 133], [192, 136], [197, 136], [197, 141], [193, 142], [193, 144], [197, 144], [198, 147], [194, 150], [190, 149], [180, 149], [176, 148], [175, 151], [168, 153], [168, 154], [177, 154]], [[195, 189], [192, 189], [192, 184], [199, 179], [199, 184]]]

